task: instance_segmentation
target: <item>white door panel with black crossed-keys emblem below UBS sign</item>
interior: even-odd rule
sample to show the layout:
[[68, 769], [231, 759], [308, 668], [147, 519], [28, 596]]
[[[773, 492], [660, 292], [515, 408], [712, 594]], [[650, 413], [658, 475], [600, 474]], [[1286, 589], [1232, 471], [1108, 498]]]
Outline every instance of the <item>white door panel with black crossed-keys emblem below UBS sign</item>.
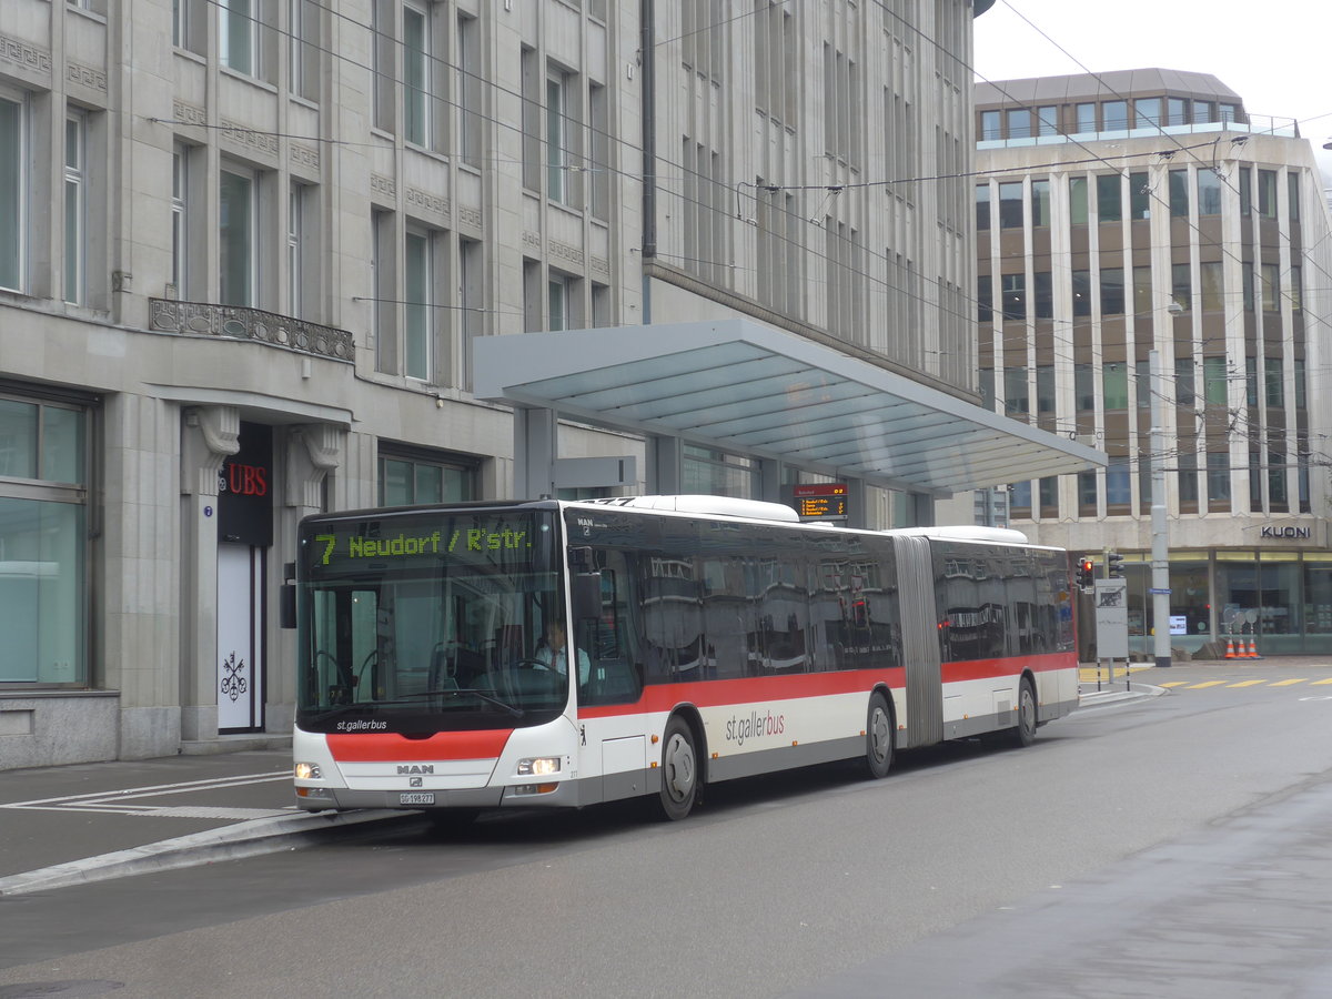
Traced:
[[217, 730], [264, 727], [264, 554], [217, 546]]

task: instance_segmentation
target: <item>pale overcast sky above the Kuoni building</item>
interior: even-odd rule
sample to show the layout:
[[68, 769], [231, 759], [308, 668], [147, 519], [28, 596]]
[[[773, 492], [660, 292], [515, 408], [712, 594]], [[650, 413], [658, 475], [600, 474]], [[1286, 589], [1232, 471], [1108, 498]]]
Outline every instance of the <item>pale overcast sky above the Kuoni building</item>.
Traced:
[[[975, 23], [983, 80], [1188, 69], [1255, 116], [1296, 119], [1332, 184], [1332, 16], [1324, 0], [998, 0]], [[1048, 37], [1047, 37], [1048, 36]]]

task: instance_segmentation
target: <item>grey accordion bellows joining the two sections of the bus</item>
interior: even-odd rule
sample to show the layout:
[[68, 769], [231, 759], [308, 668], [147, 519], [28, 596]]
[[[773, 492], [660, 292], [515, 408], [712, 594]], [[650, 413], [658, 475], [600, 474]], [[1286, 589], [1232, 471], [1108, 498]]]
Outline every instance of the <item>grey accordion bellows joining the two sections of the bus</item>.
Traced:
[[907, 667], [907, 731], [910, 746], [943, 741], [943, 671], [934, 609], [934, 559], [930, 539], [892, 538], [902, 594], [902, 658]]

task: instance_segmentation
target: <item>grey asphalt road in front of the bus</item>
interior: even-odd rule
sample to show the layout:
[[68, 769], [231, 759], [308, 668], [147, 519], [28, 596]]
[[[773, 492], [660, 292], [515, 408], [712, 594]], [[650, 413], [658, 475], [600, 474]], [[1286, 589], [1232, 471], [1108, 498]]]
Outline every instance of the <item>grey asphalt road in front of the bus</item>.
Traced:
[[1156, 673], [1026, 750], [723, 785], [683, 823], [406, 821], [0, 899], [0, 999], [1332, 995], [1332, 686]]

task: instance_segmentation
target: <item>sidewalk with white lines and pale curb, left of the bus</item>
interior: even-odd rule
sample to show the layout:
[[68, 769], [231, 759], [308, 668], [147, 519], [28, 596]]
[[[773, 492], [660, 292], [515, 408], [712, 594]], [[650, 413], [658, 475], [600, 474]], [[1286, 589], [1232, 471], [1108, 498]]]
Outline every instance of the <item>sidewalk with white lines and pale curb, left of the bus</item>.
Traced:
[[0, 773], [0, 895], [270, 852], [393, 811], [298, 811], [290, 750]]

